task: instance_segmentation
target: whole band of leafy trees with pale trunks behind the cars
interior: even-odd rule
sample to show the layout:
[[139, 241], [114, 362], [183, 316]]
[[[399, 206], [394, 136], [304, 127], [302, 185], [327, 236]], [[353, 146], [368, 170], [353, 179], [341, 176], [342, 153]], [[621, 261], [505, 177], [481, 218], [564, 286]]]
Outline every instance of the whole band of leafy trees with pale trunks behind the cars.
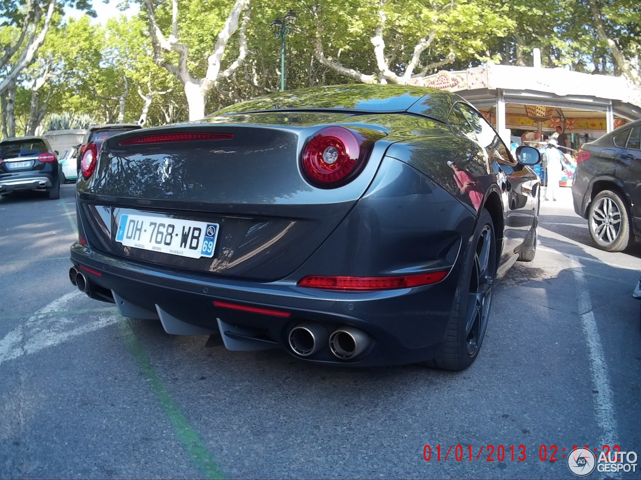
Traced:
[[[94, 0], [101, 1], [101, 0]], [[90, 0], [0, 0], [3, 136], [52, 113], [159, 125], [279, 90], [265, 0], [128, 0], [102, 24]], [[65, 16], [70, 6], [84, 10]], [[310, 0], [285, 35], [288, 89], [412, 83], [493, 61], [623, 75], [641, 87], [636, 0]]]

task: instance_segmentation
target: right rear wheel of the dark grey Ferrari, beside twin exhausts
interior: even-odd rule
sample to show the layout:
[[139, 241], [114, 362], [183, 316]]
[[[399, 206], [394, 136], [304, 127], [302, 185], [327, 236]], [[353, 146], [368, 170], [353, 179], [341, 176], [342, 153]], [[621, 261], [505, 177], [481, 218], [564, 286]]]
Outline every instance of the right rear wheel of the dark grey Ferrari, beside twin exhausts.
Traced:
[[426, 365], [462, 371], [476, 360], [487, 328], [496, 268], [494, 223], [483, 209], [456, 288], [442, 351]]

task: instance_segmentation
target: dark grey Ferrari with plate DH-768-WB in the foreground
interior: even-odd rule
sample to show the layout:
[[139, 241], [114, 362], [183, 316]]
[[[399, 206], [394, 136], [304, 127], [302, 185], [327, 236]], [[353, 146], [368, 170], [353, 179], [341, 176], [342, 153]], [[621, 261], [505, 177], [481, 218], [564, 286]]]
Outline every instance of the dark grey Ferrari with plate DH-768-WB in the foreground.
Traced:
[[453, 93], [348, 85], [90, 143], [72, 284], [168, 333], [317, 364], [478, 355], [537, 244], [535, 148]]

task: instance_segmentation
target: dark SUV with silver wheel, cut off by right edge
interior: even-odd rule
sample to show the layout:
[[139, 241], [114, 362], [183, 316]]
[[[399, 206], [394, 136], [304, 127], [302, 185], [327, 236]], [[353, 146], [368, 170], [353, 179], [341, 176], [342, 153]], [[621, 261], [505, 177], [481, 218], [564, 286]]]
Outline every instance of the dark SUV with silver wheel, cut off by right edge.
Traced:
[[576, 160], [574, 211], [597, 247], [625, 250], [641, 235], [641, 120], [584, 143]]

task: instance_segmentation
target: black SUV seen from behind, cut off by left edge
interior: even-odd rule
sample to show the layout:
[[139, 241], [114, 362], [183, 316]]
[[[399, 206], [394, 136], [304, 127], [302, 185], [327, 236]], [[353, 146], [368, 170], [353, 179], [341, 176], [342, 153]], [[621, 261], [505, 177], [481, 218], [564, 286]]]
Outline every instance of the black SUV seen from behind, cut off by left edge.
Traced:
[[47, 191], [60, 198], [58, 159], [42, 137], [25, 136], [0, 141], [0, 194], [17, 190]]

